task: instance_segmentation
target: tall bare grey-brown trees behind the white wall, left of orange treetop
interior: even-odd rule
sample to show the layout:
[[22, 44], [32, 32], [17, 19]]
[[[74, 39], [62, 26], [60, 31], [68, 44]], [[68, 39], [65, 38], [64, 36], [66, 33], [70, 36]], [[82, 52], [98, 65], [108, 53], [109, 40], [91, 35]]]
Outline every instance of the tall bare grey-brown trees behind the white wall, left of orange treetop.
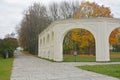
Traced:
[[[66, 19], [73, 17], [73, 11], [76, 9], [76, 4], [71, 3], [69, 6], [67, 2], [58, 5], [53, 3], [46, 8], [40, 3], [34, 3], [24, 12], [24, 18], [21, 21], [20, 29], [17, 30], [19, 34], [20, 45], [32, 54], [37, 54], [38, 51], [38, 34], [41, 33], [51, 22], [59, 19]], [[69, 6], [69, 7], [68, 7]], [[69, 11], [65, 11], [65, 10]], [[67, 12], [66, 17], [64, 13]], [[69, 13], [68, 13], [69, 12]], [[68, 15], [71, 15], [68, 17]]]

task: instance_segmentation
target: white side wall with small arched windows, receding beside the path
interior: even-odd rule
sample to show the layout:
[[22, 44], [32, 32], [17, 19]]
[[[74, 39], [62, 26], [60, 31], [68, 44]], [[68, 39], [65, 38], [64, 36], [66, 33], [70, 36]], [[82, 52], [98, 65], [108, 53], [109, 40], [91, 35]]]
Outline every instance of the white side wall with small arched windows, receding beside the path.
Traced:
[[[42, 39], [42, 45], [40, 46], [40, 40], [39, 40], [39, 50], [38, 50], [38, 56], [42, 58], [48, 58], [53, 59], [53, 42], [51, 33], [53, 32], [53, 28], [46, 29], [42, 32], [42, 34], [39, 35], [39, 39]], [[49, 36], [49, 37], [48, 37]], [[45, 39], [44, 39], [45, 38]]]

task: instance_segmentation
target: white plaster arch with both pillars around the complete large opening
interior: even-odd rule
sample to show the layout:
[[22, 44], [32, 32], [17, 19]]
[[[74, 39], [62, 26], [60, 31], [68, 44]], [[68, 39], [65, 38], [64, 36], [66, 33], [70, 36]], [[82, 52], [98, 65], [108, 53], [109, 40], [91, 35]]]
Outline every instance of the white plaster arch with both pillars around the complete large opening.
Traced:
[[[96, 61], [109, 61], [109, 54], [108, 54], [109, 46], [108, 46], [108, 43], [105, 43], [106, 42], [105, 26], [106, 25], [103, 24], [103, 22], [100, 22], [98, 25], [98, 23], [96, 24], [95, 21], [82, 22], [82, 23], [69, 22], [67, 25], [66, 24], [62, 24], [62, 25], [59, 24], [59, 26], [56, 25], [58, 30], [57, 29], [55, 30], [55, 35], [54, 35], [55, 39], [57, 39], [57, 40], [54, 39], [55, 40], [54, 60], [63, 61], [62, 43], [63, 43], [64, 36], [74, 28], [82, 28], [91, 32], [95, 38], [96, 53], [97, 53]], [[101, 33], [101, 31], [104, 31], [104, 32]], [[101, 36], [101, 35], [104, 35], [104, 36]], [[58, 52], [59, 54], [57, 54]]]

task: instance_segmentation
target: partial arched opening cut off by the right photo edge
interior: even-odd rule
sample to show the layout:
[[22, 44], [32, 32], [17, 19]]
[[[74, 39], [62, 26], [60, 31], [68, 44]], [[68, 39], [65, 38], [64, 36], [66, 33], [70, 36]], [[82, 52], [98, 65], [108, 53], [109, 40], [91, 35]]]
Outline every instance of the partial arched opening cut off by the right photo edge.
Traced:
[[120, 27], [114, 29], [109, 36], [110, 61], [120, 61]]

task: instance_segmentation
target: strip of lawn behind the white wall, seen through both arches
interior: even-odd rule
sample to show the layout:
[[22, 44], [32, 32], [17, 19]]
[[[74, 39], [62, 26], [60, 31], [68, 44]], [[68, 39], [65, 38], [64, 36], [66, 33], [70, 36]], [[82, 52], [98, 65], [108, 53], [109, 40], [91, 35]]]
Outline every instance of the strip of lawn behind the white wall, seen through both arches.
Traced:
[[[73, 55], [64, 55], [63, 56], [63, 61], [64, 62], [95, 62], [96, 57], [93, 55], [78, 55], [78, 56], [73, 56]], [[110, 61], [111, 62], [120, 62], [120, 52], [115, 53], [112, 52], [110, 53]]]

